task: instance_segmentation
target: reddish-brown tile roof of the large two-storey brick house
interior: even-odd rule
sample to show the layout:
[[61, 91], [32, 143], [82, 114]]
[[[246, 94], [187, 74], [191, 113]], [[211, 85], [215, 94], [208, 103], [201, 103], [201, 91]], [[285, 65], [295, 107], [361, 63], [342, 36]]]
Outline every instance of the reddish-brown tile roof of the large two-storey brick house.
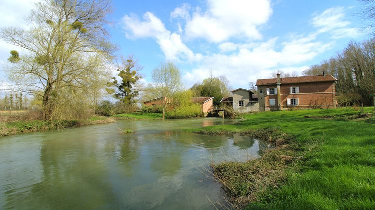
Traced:
[[[332, 75], [326, 76], [298, 76], [298, 77], [288, 77], [281, 78], [281, 84], [294, 84], [294, 83], [310, 83], [310, 82], [324, 82], [324, 81], [337, 81]], [[256, 86], [276, 84], [277, 78], [271, 79], [258, 79], [256, 81]]]

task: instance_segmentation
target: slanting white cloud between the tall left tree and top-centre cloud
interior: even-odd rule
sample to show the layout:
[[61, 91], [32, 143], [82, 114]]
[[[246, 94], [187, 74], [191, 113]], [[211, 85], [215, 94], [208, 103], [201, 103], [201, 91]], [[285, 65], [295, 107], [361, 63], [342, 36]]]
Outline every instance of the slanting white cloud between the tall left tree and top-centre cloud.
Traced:
[[151, 12], [143, 15], [143, 21], [136, 16], [127, 16], [123, 18], [126, 37], [128, 38], [154, 38], [160, 45], [167, 60], [179, 60], [180, 58], [189, 61], [198, 61], [201, 54], [194, 54], [181, 40], [177, 33], [171, 33], [165, 28], [165, 25]]

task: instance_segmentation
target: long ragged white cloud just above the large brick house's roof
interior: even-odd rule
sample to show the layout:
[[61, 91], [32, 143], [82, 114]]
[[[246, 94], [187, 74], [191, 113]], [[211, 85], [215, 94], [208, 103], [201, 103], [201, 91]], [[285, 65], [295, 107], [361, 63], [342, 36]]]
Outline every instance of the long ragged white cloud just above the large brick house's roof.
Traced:
[[[188, 85], [209, 76], [209, 69], [214, 75], [225, 75], [232, 85], [246, 88], [248, 82], [268, 78], [272, 71], [282, 70], [301, 73], [308, 66], [301, 65], [327, 50], [332, 43], [314, 41], [315, 36], [290, 37], [289, 41], [278, 43], [278, 38], [269, 39], [258, 45], [240, 45], [227, 43], [227, 48], [238, 49], [229, 55], [215, 53], [204, 56], [198, 67], [186, 72], [183, 79]], [[282, 46], [276, 50], [277, 46]], [[222, 45], [221, 45], [222, 46]]]

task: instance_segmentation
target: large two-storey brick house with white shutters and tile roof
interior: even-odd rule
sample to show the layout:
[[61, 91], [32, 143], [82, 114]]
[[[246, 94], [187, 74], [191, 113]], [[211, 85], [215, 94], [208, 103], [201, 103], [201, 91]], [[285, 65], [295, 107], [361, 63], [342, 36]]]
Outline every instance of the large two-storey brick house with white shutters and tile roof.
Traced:
[[336, 108], [337, 81], [331, 75], [258, 79], [259, 111]]

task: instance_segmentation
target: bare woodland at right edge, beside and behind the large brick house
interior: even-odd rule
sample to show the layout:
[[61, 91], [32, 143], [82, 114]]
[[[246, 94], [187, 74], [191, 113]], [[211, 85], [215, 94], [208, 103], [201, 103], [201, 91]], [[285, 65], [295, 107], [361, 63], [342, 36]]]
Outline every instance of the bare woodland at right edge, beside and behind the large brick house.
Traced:
[[375, 38], [362, 43], [350, 42], [336, 56], [313, 65], [304, 75], [322, 75], [323, 71], [338, 79], [339, 106], [371, 105], [375, 92]]

